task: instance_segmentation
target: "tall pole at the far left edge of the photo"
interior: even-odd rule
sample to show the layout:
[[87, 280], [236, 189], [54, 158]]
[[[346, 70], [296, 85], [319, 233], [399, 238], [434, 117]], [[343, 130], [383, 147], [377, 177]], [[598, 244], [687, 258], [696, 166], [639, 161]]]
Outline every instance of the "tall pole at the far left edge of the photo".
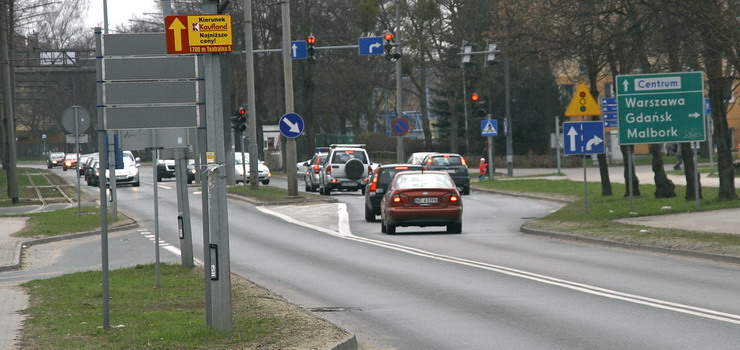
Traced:
[[11, 203], [18, 203], [18, 181], [16, 179], [16, 145], [15, 145], [15, 112], [13, 110], [13, 84], [11, 82], [12, 68], [10, 66], [10, 33], [5, 23], [10, 19], [10, 9], [0, 8], [0, 64], [2, 64], [3, 105], [5, 108], [5, 127], [7, 127], [6, 142], [8, 144], [8, 197]]

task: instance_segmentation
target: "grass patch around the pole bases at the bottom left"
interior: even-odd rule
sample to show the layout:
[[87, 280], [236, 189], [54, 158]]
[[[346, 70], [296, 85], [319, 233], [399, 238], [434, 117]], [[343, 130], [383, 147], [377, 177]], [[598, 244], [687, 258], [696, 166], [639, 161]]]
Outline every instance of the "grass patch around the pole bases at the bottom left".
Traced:
[[303, 344], [326, 348], [327, 341], [346, 336], [238, 276], [232, 277], [233, 331], [215, 330], [205, 321], [202, 270], [162, 264], [160, 271], [160, 288], [153, 285], [154, 265], [110, 272], [108, 330], [102, 327], [100, 271], [25, 283], [30, 307], [20, 348], [284, 349]]

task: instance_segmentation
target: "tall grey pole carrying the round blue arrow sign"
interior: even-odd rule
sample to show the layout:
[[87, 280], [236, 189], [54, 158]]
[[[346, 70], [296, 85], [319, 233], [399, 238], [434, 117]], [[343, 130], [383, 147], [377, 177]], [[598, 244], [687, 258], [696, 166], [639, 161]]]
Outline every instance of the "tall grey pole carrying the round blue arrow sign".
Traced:
[[[282, 25], [283, 25], [283, 81], [285, 82], [285, 113], [292, 113], [293, 106], [293, 60], [290, 55], [290, 0], [281, 2]], [[288, 172], [288, 195], [298, 195], [298, 177], [296, 176], [296, 143], [295, 138], [288, 138], [285, 144], [286, 157], [288, 162], [285, 171]], [[250, 159], [252, 163], [255, 160]], [[251, 166], [250, 166], [251, 169]], [[256, 182], [254, 178], [252, 182]]]

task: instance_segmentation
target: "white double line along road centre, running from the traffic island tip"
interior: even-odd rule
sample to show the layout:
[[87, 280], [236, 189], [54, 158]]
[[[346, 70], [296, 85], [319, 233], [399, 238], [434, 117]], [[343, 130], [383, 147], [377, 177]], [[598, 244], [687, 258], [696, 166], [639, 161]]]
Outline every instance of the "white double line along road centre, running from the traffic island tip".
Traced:
[[553, 286], [558, 286], [558, 287], [562, 287], [562, 288], [566, 288], [566, 289], [570, 289], [570, 290], [574, 290], [574, 291], [578, 291], [578, 292], [582, 292], [586, 294], [601, 296], [601, 297], [615, 299], [615, 300], [622, 300], [622, 301], [626, 301], [626, 302], [633, 303], [633, 304], [645, 305], [645, 306], [649, 306], [653, 308], [680, 312], [680, 313], [687, 314], [687, 315], [693, 315], [693, 316], [713, 319], [713, 320], [722, 321], [722, 322], [740, 324], [740, 315], [735, 315], [731, 313], [710, 310], [710, 309], [705, 309], [705, 308], [700, 308], [700, 307], [694, 307], [694, 306], [685, 305], [685, 304], [673, 303], [673, 302], [660, 300], [660, 299], [648, 298], [648, 297], [644, 297], [644, 296], [640, 296], [636, 294], [624, 293], [624, 292], [620, 292], [620, 291], [616, 291], [616, 290], [612, 290], [608, 288], [601, 288], [597, 286], [588, 285], [585, 283], [564, 280], [564, 279], [560, 279], [556, 277], [550, 277], [550, 276], [541, 275], [541, 274], [519, 270], [519, 269], [514, 269], [510, 267], [488, 264], [488, 263], [468, 260], [464, 258], [457, 258], [457, 257], [448, 256], [444, 254], [432, 253], [432, 252], [429, 252], [423, 249], [417, 249], [417, 248], [408, 247], [408, 246], [404, 246], [400, 244], [355, 236], [349, 230], [349, 214], [347, 213], [347, 206], [344, 203], [337, 204], [337, 212], [339, 214], [339, 232], [325, 229], [323, 227], [318, 227], [316, 225], [303, 223], [288, 215], [284, 215], [276, 211], [272, 211], [262, 206], [257, 206], [256, 208], [263, 213], [281, 218], [289, 223], [311, 228], [311, 229], [324, 232], [326, 234], [339, 237], [339, 238], [343, 238], [343, 239], [348, 239], [348, 240], [361, 242], [365, 244], [371, 244], [374, 246], [392, 249], [392, 250], [396, 250], [399, 252], [416, 255], [420, 257], [425, 257], [425, 258], [430, 258], [430, 259], [435, 259], [435, 260], [440, 260], [440, 261], [446, 261], [446, 262], [451, 262], [455, 264], [484, 269], [488, 271], [498, 272], [501, 274], [505, 274], [505, 275], [509, 275], [513, 277], [519, 277], [519, 278], [523, 278], [523, 279], [527, 279], [527, 280], [531, 280], [535, 282], [540, 282], [540, 283], [545, 283], [545, 284], [549, 284]]

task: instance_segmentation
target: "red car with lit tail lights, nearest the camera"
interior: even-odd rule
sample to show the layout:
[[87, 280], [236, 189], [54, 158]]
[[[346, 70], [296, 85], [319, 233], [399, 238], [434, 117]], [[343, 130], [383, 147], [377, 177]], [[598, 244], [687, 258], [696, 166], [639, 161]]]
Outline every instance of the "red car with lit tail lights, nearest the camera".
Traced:
[[462, 212], [462, 196], [446, 172], [400, 172], [380, 201], [381, 232], [395, 234], [398, 226], [447, 226], [447, 232], [461, 233]]

